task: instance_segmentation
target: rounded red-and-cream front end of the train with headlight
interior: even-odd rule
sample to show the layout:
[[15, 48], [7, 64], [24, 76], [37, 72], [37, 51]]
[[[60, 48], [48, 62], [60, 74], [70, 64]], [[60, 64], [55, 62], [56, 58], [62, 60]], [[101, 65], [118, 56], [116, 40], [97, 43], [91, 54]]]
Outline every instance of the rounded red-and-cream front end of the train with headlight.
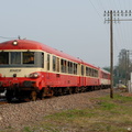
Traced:
[[44, 53], [28, 41], [9, 41], [0, 44], [0, 92], [7, 99], [31, 97], [42, 88]]

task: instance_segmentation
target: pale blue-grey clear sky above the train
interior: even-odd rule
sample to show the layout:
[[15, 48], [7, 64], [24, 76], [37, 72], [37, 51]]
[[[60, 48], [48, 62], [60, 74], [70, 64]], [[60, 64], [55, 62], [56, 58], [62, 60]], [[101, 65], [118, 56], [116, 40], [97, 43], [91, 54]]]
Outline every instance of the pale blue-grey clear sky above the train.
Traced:
[[[0, 42], [20, 35], [95, 66], [110, 66], [110, 23], [103, 12], [131, 9], [132, 0], [0, 0]], [[131, 34], [132, 21], [113, 23], [113, 65], [122, 48], [132, 50]]]

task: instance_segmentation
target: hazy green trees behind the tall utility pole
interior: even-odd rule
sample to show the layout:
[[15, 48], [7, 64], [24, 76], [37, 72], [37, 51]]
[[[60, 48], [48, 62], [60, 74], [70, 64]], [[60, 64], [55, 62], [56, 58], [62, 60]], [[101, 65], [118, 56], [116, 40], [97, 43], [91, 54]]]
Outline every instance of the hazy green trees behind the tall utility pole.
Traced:
[[[130, 80], [130, 73], [132, 70], [131, 62], [132, 52], [128, 50], [121, 50], [119, 53], [118, 64], [113, 66], [113, 85], [123, 84], [127, 85]], [[103, 67], [103, 69], [110, 72], [110, 67]]]

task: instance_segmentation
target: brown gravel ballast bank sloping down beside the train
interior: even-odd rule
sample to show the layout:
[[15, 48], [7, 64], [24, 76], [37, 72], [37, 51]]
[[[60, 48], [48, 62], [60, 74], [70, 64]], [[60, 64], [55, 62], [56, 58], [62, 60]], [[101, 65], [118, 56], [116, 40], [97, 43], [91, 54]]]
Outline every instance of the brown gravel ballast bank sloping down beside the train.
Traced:
[[81, 109], [97, 103], [92, 98], [109, 95], [109, 89], [54, 97], [24, 103], [0, 106], [0, 130], [7, 128], [22, 129], [40, 122], [45, 116], [68, 109]]

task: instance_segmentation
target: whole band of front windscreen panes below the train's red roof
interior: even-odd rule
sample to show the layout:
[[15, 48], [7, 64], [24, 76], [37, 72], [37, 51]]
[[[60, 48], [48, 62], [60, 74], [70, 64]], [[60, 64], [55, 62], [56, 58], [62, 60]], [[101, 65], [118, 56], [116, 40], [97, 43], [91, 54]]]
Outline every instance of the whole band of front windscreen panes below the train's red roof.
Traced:
[[0, 52], [0, 67], [43, 67], [44, 53]]

